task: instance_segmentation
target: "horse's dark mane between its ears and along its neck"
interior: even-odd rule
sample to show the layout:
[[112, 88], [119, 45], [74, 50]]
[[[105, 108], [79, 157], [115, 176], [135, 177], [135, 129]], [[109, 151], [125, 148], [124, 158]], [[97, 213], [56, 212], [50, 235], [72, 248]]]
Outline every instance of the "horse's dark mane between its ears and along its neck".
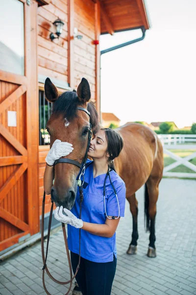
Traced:
[[[69, 121], [77, 117], [77, 107], [81, 106], [83, 102], [80, 102], [75, 91], [66, 91], [62, 93], [58, 99], [54, 102], [52, 113], [62, 114]], [[91, 113], [90, 123], [92, 130], [96, 133], [99, 129], [98, 112], [93, 102], [88, 103], [88, 111]]]

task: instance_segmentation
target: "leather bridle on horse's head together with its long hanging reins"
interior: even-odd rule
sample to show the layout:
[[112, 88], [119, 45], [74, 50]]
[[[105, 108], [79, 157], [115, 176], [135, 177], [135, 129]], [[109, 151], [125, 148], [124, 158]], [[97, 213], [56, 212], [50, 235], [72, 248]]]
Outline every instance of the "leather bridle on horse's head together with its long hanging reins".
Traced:
[[[89, 117], [90, 117], [90, 112], [87, 111], [86, 109], [84, 108], [81, 108], [81, 107], [77, 107], [77, 110], [80, 110], [80, 111], [84, 111]], [[69, 163], [69, 164], [73, 164], [77, 167], [80, 168], [80, 171], [79, 171], [79, 174], [78, 176], [76, 177], [76, 180], [77, 180], [77, 185], [79, 187], [79, 195], [80, 195], [80, 216], [79, 218], [81, 219], [81, 204], [82, 204], [82, 200], [83, 200], [83, 183], [84, 183], [84, 180], [83, 182], [81, 182], [81, 179], [80, 177], [84, 174], [85, 174], [85, 168], [86, 168], [86, 160], [87, 160], [87, 153], [88, 153], [88, 149], [89, 149], [89, 146], [90, 146], [90, 141], [91, 141], [91, 137], [92, 137], [92, 130], [91, 130], [91, 123], [90, 123], [90, 128], [88, 130], [88, 143], [87, 143], [87, 148], [86, 148], [86, 152], [85, 152], [85, 155], [84, 155], [84, 158], [82, 160], [82, 163], [79, 163], [75, 160], [72, 160], [72, 159], [67, 159], [67, 158], [61, 158], [61, 159], [58, 159], [54, 162], [54, 165], [58, 164], [58, 163]], [[79, 266], [80, 266], [80, 238], [81, 238], [81, 229], [79, 229], [79, 260], [78, 260], [78, 265], [76, 267], [76, 271], [74, 273], [74, 275], [72, 276], [72, 265], [71, 265], [71, 259], [70, 259], [70, 253], [69, 253], [69, 248], [68, 248], [68, 242], [67, 242], [67, 235], [66, 235], [66, 230], [65, 230], [65, 223], [62, 222], [62, 229], [63, 229], [63, 236], [64, 236], [64, 240], [65, 240], [65, 247], [66, 247], [66, 252], [67, 252], [67, 257], [68, 257], [68, 263], [69, 263], [69, 268], [70, 268], [70, 280], [67, 281], [67, 282], [61, 282], [61, 281], [58, 281], [56, 280], [52, 275], [51, 273], [49, 272], [49, 269], [47, 267], [47, 256], [48, 256], [48, 248], [49, 248], [49, 236], [50, 236], [50, 228], [51, 228], [51, 221], [52, 221], [52, 212], [53, 212], [53, 201], [51, 200], [51, 209], [50, 209], [50, 214], [49, 214], [49, 226], [48, 226], [48, 235], [47, 235], [47, 246], [46, 246], [46, 256], [45, 256], [45, 252], [44, 252], [44, 209], [45, 209], [45, 198], [46, 198], [46, 193], [44, 191], [44, 195], [43, 195], [43, 201], [42, 201], [42, 224], [41, 224], [41, 248], [42, 248], [42, 260], [43, 260], [43, 273], [42, 273], [42, 281], [43, 281], [43, 286], [44, 286], [44, 290], [46, 291], [46, 293], [48, 295], [51, 295], [49, 293], [49, 291], [47, 290], [46, 288], [46, 284], [45, 284], [45, 277], [44, 277], [44, 274], [45, 274], [45, 270], [47, 272], [47, 274], [49, 275], [49, 277], [57, 284], [60, 284], [60, 285], [67, 285], [67, 284], [70, 284], [70, 287], [69, 287], [69, 290], [68, 292], [66, 293], [66, 295], [68, 295], [71, 291], [71, 288], [72, 288], [72, 282], [73, 282], [73, 279], [75, 278], [78, 270], [79, 270]]]

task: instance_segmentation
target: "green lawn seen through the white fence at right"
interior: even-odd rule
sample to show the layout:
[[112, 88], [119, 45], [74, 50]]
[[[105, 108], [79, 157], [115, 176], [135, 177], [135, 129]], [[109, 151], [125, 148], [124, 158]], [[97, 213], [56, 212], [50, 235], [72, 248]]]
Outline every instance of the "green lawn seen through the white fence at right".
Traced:
[[[189, 154], [196, 151], [195, 149], [190, 149], [190, 150], [188, 150], [188, 149], [169, 149], [169, 150], [182, 158], [186, 157]], [[175, 162], [174, 159], [172, 159], [169, 155], [164, 154], [164, 167], [172, 164], [173, 162]], [[196, 165], [196, 158], [190, 160], [189, 162]], [[179, 165], [179, 166], [173, 168], [172, 170], [170, 170], [170, 172], [195, 173], [193, 170], [189, 169], [188, 167], [186, 167], [184, 165]]]

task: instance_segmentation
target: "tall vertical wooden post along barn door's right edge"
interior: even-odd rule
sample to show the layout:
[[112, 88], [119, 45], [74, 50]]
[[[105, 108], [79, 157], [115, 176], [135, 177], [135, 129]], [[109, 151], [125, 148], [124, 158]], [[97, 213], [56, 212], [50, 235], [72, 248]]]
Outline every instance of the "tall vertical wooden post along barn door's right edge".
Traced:
[[[31, 0], [26, 6], [26, 63], [28, 78], [26, 92], [26, 132], [28, 150], [27, 195], [28, 224], [30, 234], [39, 232], [39, 183], [38, 183], [38, 148], [39, 148], [39, 99], [38, 99], [38, 61], [37, 61], [37, 2]], [[28, 29], [30, 28], [30, 29]]]

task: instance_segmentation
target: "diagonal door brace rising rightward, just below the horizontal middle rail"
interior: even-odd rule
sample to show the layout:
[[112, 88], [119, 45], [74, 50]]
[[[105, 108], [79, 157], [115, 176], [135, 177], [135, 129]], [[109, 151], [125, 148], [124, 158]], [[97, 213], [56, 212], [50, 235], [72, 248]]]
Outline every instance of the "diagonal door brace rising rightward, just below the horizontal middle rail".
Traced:
[[10, 191], [10, 189], [16, 184], [19, 178], [24, 174], [26, 168], [27, 168], [27, 164], [23, 163], [16, 171], [14, 171], [10, 175], [10, 177], [8, 177], [6, 182], [0, 188], [0, 203], [5, 198], [5, 196]]

